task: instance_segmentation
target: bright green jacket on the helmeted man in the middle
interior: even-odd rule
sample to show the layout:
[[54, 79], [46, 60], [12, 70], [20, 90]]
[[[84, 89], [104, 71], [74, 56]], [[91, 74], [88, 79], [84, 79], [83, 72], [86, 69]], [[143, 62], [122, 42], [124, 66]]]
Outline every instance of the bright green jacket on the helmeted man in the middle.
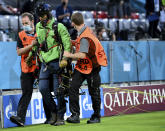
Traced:
[[[42, 58], [44, 59], [46, 63], [54, 59], [58, 59], [60, 56], [60, 51], [61, 51], [58, 46], [59, 43], [56, 42], [54, 39], [55, 34], [54, 34], [54, 30], [52, 29], [52, 24], [54, 22], [55, 20], [53, 18], [46, 27], [43, 27], [40, 22], [37, 23], [36, 25], [36, 33], [38, 37], [38, 42], [42, 44], [43, 41], [46, 41], [47, 47], [48, 49], [50, 49], [48, 52], [44, 52], [44, 51], [40, 52], [40, 55], [42, 56]], [[58, 34], [61, 36], [62, 43], [64, 46], [64, 51], [70, 51], [70, 46], [71, 46], [70, 35], [66, 27], [61, 23], [58, 23]], [[42, 61], [42, 59], [40, 60]]]

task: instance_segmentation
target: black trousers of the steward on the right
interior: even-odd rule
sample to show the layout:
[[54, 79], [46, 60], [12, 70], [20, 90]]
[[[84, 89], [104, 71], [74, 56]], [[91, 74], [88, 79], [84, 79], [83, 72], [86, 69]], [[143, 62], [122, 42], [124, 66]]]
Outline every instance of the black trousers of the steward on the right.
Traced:
[[82, 74], [79, 71], [75, 70], [71, 88], [69, 90], [69, 108], [72, 115], [80, 115], [80, 106], [79, 106], [79, 88], [84, 80], [87, 80], [89, 94], [92, 99], [92, 107], [94, 110], [94, 115], [100, 117], [100, 67], [93, 69], [90, 74]]

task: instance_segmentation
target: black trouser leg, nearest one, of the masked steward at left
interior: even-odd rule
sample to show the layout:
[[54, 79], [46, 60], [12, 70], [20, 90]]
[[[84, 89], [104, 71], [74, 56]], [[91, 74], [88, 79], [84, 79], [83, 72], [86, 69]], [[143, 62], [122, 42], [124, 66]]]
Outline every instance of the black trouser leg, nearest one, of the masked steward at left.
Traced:
[[25, 122], [26, 111], [32, 97], [34, 80], [33, 73], [21, 73], [22, 96], [18, 103], [17, 116], [21, 117], [23, 122]]

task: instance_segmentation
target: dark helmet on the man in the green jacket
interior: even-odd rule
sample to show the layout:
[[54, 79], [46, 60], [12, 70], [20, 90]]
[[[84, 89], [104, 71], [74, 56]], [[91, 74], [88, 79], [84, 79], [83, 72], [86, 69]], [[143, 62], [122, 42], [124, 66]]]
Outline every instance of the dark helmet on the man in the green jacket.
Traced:
[[45, 3], [40, 3], [37, 8], [36, 8], [36, 14], [39, 17], [42, 17], [43, 15], [49, 15], [50, 14], [50, 5], [49, 4], [45, 4]]

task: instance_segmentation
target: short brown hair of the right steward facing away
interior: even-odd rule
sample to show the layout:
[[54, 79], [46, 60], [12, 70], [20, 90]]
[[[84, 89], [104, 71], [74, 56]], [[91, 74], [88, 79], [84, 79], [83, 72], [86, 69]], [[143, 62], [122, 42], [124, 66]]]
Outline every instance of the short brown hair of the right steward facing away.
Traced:
[[84, 24], [84, 18], [83, 18], [83, 15], [79, 12], [77, 13], [74, 13], [72, 16], [71, 16], [71, 21], [74, 22], [76, 25], [82, 25]]

